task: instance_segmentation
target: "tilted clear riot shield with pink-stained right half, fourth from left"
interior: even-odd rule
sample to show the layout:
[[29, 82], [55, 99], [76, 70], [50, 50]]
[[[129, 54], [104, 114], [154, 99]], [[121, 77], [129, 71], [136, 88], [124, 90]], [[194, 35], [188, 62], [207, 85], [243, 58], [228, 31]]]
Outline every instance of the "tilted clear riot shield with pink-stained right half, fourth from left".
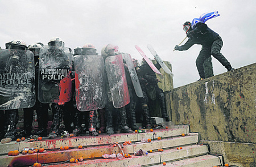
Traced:
[[105, 66], [114, 108], [121, 108], [130, 102], [122, 54], [107, 57]]

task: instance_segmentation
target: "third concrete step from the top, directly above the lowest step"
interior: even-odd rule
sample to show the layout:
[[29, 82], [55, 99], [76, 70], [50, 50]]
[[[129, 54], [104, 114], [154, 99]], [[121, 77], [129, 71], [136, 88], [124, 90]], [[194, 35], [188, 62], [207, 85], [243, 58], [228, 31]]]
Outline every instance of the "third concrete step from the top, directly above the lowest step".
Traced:
[[[175, 161], [193, 156], [206, 155], [208, 148], [206, 145], [187, 145], [183, 149], [165, 149], [163, 152], [148, 153], [147, 156], [134, 156], [130, 158], [118, 159], [96, 159], [84, 160], [77, 163], [65, 162], [61, 164], [45, 164], [44, 166], [152, 166], [161, 164], [163, 160]], [[74, 157], [76, 158], [76, 157]]]

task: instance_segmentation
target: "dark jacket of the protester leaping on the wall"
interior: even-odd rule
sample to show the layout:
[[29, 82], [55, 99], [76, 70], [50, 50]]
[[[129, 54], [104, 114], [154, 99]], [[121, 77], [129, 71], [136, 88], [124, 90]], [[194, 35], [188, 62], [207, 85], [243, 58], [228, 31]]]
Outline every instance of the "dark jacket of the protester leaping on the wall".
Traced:
[[188, 41], [184, 45], [179, 46], [177, 50], [188, 50], [194, 44], [199, 44], [203, 48], [207, 48], [219, 36], [218, 33], [212, 31], [205, 23], [197, 23], [192, 32], [189, 33], [192, 33], [192, 37], [189, 37]]

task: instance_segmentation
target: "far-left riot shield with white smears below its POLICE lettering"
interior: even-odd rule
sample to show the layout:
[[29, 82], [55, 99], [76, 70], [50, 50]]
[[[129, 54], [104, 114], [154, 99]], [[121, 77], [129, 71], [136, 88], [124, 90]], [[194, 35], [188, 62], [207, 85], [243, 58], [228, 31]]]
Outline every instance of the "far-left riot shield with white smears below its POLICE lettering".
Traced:
[[0, 110], [34, 105], [34, 54], [30, 50], [0, 50]]

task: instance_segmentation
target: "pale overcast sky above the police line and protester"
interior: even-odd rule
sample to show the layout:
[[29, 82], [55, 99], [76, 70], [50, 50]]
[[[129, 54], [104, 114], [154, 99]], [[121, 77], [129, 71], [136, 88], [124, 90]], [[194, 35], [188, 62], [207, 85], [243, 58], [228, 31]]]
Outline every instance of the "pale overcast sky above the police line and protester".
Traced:
[[[200, 78], [195, 64], [200, 45], [172, 51], [185, 37], [182, 24], [218, 11], [220, 16], [206, 23], [222, 37], [222, 54], [234, 68], [240, 68], [256, 61], [255, 6], [255, 0], [0, 1], [0, 46], [4, 49], [6, 42], [15, 39], [27, 45], [37, 41], [47, 45], [58, 36], [72, 49], [89, 42], [100, 54], [103, 46], [111, 43], [118, 45], [120, 52], [142, 59], [134, 45], [153, 58], [146, 47], [151, 44], [172, 64], [176, 88]], [[213, 58], [213, 71], [218, 75], [226, 68]]]

